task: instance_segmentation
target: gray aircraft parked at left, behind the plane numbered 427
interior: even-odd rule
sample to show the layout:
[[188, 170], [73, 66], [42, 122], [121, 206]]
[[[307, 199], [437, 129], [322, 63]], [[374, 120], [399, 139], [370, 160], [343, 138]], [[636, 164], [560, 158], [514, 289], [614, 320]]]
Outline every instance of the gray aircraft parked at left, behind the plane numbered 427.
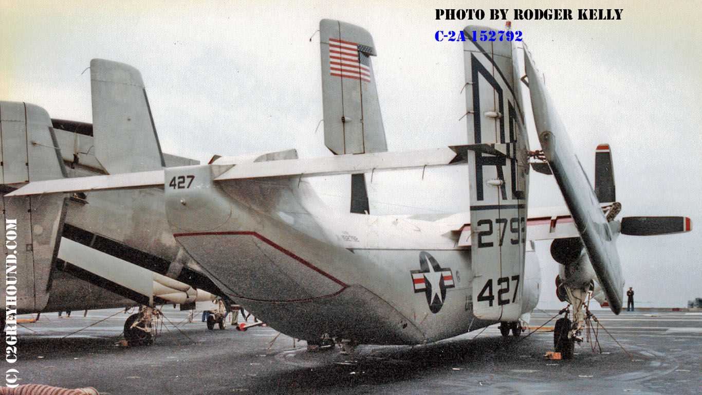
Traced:
[[[93, 124], [51, 119], [37, 105], [0, 102], [0, 184], [7, 277], [19, 313], [143, 305], [125, 336], [148, 343], [151, 308], [192, 307], [223, 292], [173, 238], [159, 190], [38, 197], [9, 192], [41, 180], [122, 174], [197, 163], [161, 154], [139, 72], [91, 62]], [[14, 303], [13, 303], [14, 302]], [[11, 328], [11, 332], [13, 332]]]

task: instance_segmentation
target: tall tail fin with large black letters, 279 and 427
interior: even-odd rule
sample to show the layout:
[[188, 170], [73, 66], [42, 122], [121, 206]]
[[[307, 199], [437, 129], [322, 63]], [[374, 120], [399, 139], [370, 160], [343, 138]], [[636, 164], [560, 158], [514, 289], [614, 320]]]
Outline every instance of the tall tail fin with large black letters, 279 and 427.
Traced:
[[528, 145], [512, 51], [508, 41], [463, 45], [468, 144], [506, 148], [468, 150], [473, 313], [502, 321], [522, 313], [527, 240]]

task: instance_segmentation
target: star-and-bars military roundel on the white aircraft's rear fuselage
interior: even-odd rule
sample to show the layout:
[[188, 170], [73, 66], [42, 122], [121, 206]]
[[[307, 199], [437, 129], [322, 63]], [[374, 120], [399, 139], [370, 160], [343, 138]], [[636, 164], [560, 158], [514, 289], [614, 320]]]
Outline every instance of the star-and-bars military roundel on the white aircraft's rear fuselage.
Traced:
[[419, 253], [419, 270], [410, 271], [414, 293], [424, 292], [432, 313], [438, 313], [444, 306], [446, 288], [453, 288], [451, 268], [442, 268], [428, 252]]

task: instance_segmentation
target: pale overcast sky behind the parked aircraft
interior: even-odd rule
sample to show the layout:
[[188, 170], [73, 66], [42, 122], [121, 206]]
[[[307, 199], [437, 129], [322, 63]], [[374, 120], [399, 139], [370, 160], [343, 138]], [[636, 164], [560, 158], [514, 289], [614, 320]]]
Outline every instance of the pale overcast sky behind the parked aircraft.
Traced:
[[[437, 30], [503, 27], [501, 20], [435, 20], [409, 1], [41, 1], [0, 2], [0, 99], [26, 101], [51, 117], [91, 122], [91, 58], [128, 63], [143, 75], [161, 147], [213, 154], [297, 148], [330, 155], [322, 141], [319, 19], [373, 35], [378, 96], [390, 150], [466, 141], [462, 44]], [[627, 286], [654, 305], [702, 297], [702, 33], [697, 1], [441, 1], [444, 8], [623, 8], [622, 20], [513, 20], [524, 32], [583, 167], [598, 143], [614, 155], [620, 216], [685, 215], [684, 235], [621, 236]], [[417, 3], [420, 4], [420, 3]], [[661, 6], [664, 4], [664, 6]], [[509, 18], [512, 18], [511, 16]], [[314, 37], [312, 37], [314, 36]], [[312, 41], [310, 42], [310, 37]], [[82, 73], [82, 74], [81, 74]], [[531, 149], [538, 138], [530, 131]], [[465, 169], [376, 174], [375, 214], [468, 210]], [[347, 209], [347, 183], [315, 184]], [[338, 188], [342, 186], [342, 188]], [[562, 205], [550, 176], [531, 173], [530, 205]], [[557, 266], [538, 244], [545, 292]], [[542, 304], [545, 306], [545, 304]]]

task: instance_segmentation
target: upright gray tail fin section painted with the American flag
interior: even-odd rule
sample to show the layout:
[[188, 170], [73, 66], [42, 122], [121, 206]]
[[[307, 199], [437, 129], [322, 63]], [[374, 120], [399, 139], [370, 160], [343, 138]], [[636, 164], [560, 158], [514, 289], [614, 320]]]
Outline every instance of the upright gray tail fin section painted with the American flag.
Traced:
[[322, 47], [324, 144], [342, 154], [388, 150], [370, 56], [373, 37], [362, 27], [319, 21]]

